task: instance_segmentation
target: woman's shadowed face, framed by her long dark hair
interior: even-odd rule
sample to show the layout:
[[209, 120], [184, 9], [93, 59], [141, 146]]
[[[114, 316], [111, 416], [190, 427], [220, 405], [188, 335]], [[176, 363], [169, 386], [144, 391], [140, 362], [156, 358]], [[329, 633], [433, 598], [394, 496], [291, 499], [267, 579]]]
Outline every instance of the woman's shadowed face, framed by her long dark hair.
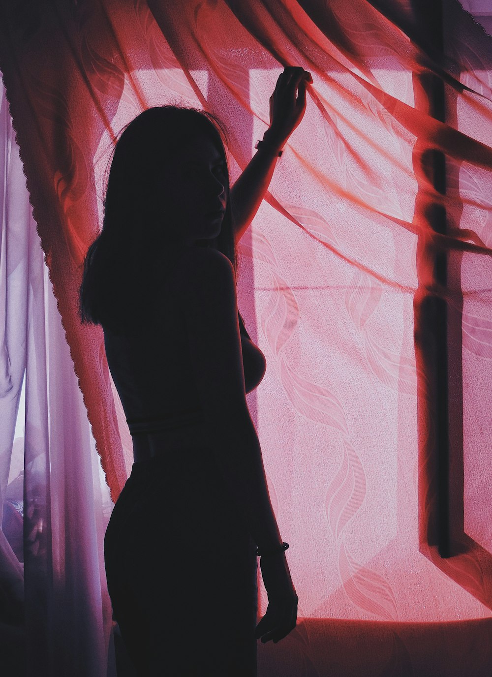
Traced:
[[212, 139], [194, 136], [173, 152], [162, 177], [165, 227], [192, 246], [216, 238], [227, 203], [224, 160]]

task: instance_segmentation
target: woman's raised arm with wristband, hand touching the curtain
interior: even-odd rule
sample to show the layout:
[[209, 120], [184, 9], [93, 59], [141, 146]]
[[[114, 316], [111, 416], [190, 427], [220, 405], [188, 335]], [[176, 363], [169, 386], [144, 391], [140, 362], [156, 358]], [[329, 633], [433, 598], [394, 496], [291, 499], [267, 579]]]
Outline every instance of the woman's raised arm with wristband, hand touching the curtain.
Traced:
[[244, 235], [259, 209], [273, 176], [273, 170], [287, 139], [303, 118], [306, 109], [306, 85], [311, 74], [300, 67], [288, 66], [279, 75], [270, 97], [270, 125], [263, 144], [231, 187], [231, 209], [236, 242]]

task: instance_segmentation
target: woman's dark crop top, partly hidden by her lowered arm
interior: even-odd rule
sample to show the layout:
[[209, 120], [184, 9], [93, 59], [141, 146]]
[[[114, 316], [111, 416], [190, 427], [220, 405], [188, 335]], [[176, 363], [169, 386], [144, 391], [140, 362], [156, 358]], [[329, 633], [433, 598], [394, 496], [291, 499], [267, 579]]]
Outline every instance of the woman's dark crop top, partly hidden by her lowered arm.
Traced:
[[[246, 393], [265, 375], [265, 355], [252, 343], [238, 313]], [[170, 308], [156, 323], [118, 332], [103, 323], [104, 347], [131, 435], [202, 421], [185, 318]]]

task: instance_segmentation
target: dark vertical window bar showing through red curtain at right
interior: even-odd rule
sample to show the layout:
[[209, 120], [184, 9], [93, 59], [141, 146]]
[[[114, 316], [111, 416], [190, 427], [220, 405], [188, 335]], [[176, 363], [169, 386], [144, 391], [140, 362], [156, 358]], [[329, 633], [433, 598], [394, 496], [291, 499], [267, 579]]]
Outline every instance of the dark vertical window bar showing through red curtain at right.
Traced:
[[[443, 53], [443, 7], [442, 0], [413, 0], [412, 6], [418, 18], [422, 35], [422, 47], [428, 48], [439, 62]], [[431, 72], [414, 76], [416, 106], [425, 101], [426, 112], [445, 122], [445, 91], [443, 80]], [[419, 143], [416, 144], [419, 146]], [[414, 160], [420, 163], [418, 174], [426, 177], [441, 195], [446, 192], [446, 160], [441, 150], [420, 147]], [[422, 179], [420, 179], [422, 180]], [[425, 183], [425, 179], [424, 179]], [[422, 195], [417, 198], [416, 211], [434, 232], [446, 234], [447, 215], [443, 204]], [[451, 556], [449, 523], [449, 420], [448, 420], [448, 352], [447, 352], [447, 301], [428, 292], [426, 287], [434, 283], [447, 285], [447, 254], [430, 246], [425, 236], [419, 237], [418, 267], [420, 282], [424, 284], [416, 294], [416, 343], [420, 351], [420, 368], [426, 384], [419, 389], [420, 410], [428, 408], [420, 420], [426, 421], [424, 449], [420, 450], [427, 475], [421, 481], [426, 484], [421, 490], [421, 510], [426, 515], [426, 541], [437, 545], [439, 555]], [[418, 309], [418, 312], [417, 312]], [[422, 431], [421, 431], [422, 433]], [[422, 435], [421, 435], [422, 438]], [[423, 453], [422, 453], [423, 452]], [[422, 489], [422, 486], [421, 486]]]

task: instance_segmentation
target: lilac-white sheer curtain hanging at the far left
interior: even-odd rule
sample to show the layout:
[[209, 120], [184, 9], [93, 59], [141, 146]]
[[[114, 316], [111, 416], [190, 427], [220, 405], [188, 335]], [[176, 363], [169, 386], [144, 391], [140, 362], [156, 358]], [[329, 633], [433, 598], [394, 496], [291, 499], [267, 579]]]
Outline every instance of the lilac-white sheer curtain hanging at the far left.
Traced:
[[114, 676], [112, 502], [0, 94], [0, 674]]

